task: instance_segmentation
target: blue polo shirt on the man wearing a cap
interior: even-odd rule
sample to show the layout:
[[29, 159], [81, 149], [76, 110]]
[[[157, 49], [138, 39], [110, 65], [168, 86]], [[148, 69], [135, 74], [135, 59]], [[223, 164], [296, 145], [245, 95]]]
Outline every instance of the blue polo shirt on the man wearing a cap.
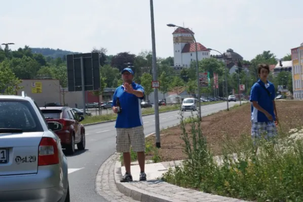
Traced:
[[[141, 90], [144, 93], [144, 88], [135, 82], [131, 84], [134, 90]], [[141, 99], [143, 97], [137, 97], [134, 94], [124, 91], [124, 86], [119, 86], [115, 93], [113, 93], [111, 107], [116, 106], [117, 97], [119, 97], [120, 106], [122, 112], [118, 114], [116, 120], [116, 128], [133, 128], [142, 126], [142, 112], [141, 112]]]

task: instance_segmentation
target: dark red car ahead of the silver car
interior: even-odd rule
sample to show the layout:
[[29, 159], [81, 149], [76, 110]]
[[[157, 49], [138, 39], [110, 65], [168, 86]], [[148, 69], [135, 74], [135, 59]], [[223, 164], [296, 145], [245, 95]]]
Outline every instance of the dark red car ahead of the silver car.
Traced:
[[55, 121], [62, 124], [62, 130], [55, 133], [61, 139], [62, 147], [67, 154], [74, 154], [75, 144], [79, 150], [85, 149], [85, 127], [80, 123], [84, 120], [83, 116], [78, 116], [69, 107], [41, 107], [40, 110], [47, 122]]

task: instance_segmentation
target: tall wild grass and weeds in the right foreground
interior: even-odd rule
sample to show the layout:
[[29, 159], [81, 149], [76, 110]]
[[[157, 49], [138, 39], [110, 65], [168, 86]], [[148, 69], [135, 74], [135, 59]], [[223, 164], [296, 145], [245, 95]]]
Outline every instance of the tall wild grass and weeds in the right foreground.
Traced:
[[[295, 130], [289, 133], [279, 125], [276, 138], [262, 138], [256, 146], [243, 134], [237, 144], [226, 137], [223, 153], [217, 159], [202, 133], [201, 123], [181, 115], [181, 138], [186, 159], [170, 168], [162, 180], [207, 193], [254, 201], [303, 201], [303, 141]], [[195, 121], [196, 120], [196, 121]], [[187, 133], [185, 124], [191, 124]]]

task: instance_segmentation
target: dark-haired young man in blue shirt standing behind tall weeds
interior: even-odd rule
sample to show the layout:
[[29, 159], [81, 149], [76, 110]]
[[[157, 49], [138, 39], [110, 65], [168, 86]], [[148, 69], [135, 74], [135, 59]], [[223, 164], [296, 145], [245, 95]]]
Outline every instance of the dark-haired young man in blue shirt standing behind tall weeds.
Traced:
[[261, 138], [262, 135], [269, 140], [270, 137], [277, 135], [275, 121], [277, 118], [277, 109], [275, 104], [275, 86], [267, 80], [270, 72], [268, 65], [258, 66], [258, 75], [260, 79], [251, 87], [250, 99], [251, 105], [251, 136], [255, 143], [255, 138]]

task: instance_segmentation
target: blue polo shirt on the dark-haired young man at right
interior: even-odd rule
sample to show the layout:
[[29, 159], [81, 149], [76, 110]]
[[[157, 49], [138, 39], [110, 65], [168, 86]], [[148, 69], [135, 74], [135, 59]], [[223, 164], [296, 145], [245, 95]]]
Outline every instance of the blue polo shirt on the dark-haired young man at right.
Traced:
[[[267, 88], [270, 92], [270, 96], [266, 89]], [[275, 113], [274, 113], [274, 104], [273, 100], [275, 100], [275, 93], [276, 89], [273, 83], [269, 82], [264, 84], [260, 79], [253, 84], [250, 91], [250, 99], [249, 101], [256, 101], [261, 108], [266, 110], [273, 116], [273, 120], [276, 120]], [[251, 104], [251, 121], [252, 122], [269, 122], [270, 120], [263, 114], [262, 112], [258, 111], [254, 108]]]

